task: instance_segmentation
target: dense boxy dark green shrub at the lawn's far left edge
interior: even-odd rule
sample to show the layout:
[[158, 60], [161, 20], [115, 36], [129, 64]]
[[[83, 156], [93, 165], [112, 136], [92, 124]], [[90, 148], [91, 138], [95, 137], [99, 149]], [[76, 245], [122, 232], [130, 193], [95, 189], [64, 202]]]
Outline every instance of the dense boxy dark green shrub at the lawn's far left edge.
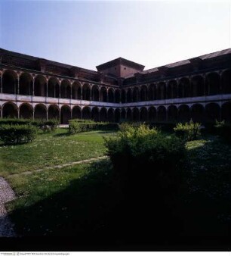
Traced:
[[28, 124], [5, 124], [0, 126], [0, 139], [5, 142], [5, 144], [32, 142], [36, 134], [36, 127]]

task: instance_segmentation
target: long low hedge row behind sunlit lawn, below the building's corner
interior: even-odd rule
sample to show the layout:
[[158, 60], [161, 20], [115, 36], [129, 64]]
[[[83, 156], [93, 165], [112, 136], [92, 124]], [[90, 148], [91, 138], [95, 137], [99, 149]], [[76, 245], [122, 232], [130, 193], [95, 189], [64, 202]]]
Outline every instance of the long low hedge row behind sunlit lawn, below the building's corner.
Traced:
[[79, 120], [69, 120], [69, 133], [82, 133], [91, 130], [118, 130], [118, 123], [100, 122], [79, 122]]

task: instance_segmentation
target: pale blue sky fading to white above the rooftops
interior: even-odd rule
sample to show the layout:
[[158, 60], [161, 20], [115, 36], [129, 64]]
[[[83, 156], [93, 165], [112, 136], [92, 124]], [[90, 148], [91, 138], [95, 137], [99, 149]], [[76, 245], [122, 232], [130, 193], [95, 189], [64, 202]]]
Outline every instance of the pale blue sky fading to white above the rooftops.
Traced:
[[0, 0], [0, 48], [96, 70], [145, 70], [230, 48], [231, 0]]

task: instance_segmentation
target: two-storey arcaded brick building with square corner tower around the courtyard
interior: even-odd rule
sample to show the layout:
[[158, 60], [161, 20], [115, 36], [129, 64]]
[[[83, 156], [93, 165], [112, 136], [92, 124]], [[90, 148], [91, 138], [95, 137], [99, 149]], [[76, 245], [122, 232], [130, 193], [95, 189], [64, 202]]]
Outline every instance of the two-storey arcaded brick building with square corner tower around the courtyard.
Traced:
[[117, 58], [87, 70], [0, 48], [1, 117], [231, 122], [231, 48], [144, 70]]

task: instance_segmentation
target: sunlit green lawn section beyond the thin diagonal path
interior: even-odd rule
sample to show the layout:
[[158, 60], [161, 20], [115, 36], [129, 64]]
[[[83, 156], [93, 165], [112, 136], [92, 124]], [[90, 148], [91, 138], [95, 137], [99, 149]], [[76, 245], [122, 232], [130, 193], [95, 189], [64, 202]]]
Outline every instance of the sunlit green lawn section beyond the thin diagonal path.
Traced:
[[93, 131], [69, 136], [67, 129], [39, 134], [34, 142], [0, 145], [0, 176], [66, 164], [105, 154], [103, 136], [111, 132]]

